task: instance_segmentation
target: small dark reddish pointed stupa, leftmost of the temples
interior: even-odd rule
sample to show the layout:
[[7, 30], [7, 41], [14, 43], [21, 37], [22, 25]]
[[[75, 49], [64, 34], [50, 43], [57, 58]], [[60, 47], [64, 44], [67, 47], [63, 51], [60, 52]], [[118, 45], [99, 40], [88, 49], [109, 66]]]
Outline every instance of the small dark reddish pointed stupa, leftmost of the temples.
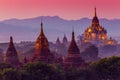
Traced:
[[12, 37], [10, 37], [10, 43], [9, 43], [9, 47], [8, 47], [5, 57], [4, 57], [4, 62], [7, 64], [12, 64], [15, 67], [20, 66], [20, 61], [18, 58], [17, 51], [15, 49], [15, 46], [13, 44]]

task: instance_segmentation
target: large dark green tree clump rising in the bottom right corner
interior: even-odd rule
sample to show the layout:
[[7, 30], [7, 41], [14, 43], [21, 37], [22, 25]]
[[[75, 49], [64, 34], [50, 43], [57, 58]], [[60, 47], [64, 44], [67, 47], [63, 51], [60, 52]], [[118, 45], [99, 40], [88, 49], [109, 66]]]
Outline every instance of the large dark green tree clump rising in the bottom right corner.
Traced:
[[98, 79], [120, 80], [120, 57], [104, 58], [91, 65]]

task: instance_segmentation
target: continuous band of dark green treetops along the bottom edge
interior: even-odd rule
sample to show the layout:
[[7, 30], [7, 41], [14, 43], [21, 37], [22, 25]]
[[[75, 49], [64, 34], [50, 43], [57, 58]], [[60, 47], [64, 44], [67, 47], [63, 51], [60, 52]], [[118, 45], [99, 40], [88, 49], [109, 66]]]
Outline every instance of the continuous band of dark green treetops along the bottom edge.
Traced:
[[0, 65], [0, 80], [120, 80], [120, 57], [104, 58], [86, 68], [63, 69], [61, 65], [28, 63], [17, 70]]

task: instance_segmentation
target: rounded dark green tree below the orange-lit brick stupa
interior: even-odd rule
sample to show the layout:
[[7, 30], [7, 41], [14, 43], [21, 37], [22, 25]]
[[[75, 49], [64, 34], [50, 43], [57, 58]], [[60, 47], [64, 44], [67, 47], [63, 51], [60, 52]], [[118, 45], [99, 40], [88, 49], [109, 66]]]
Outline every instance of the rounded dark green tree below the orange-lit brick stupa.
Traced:
[[31, 80], [64, 80], [63, 72], [57, 66], [45, 63], [28, 63], [24, 66]]

